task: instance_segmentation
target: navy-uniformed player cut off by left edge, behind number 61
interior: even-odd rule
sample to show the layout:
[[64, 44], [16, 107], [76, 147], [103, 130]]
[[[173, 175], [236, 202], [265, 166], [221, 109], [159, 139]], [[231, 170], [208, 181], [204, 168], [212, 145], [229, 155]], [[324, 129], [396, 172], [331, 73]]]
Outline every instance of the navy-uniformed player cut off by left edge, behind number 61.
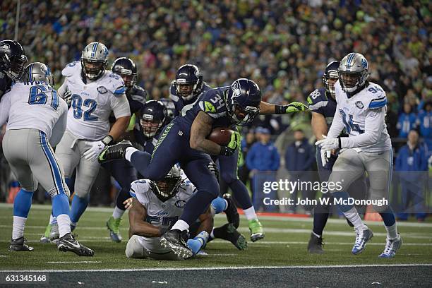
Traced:
[[27, 56], [20, 43], [0, 41], [0, 99], [11, 90], [11, 84], [23, 76]]

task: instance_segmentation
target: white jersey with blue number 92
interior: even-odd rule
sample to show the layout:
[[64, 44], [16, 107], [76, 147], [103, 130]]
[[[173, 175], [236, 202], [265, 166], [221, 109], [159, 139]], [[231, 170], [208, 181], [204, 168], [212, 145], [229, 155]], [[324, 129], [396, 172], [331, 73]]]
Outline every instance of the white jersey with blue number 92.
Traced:
[[101, 78], [83, 83], [79, 61], [66, 65], [61, 73], [66, 77], [67, 90], [72, 92], [67, 129], [78, 138], [100, 140], [107, 136], [111, 112], [116, 119], [131, 115], [119, 75], [105, 71]]

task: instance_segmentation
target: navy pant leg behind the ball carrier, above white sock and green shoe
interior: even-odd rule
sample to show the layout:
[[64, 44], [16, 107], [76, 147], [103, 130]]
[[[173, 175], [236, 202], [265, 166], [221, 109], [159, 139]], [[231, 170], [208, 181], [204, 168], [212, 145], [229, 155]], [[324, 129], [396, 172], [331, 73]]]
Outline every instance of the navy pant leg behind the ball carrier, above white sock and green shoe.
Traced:
[[251, 208], [252, 200], [248, 188], [237, 176], [239, 166], [239, 150], [231, 156], [217, 156], [219, 160], [220, 177], [231, 188], [234, 198], [239, 202], [241, 209]]

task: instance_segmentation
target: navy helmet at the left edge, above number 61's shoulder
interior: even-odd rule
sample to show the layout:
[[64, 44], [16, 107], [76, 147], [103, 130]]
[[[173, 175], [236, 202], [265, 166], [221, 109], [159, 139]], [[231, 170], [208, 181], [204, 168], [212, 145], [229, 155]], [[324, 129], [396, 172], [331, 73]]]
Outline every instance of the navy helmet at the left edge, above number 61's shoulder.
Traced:
[[0, 41], [0, 70], [12, 80], [23, 76], [28, 59], [20, 43], [14, 40]]

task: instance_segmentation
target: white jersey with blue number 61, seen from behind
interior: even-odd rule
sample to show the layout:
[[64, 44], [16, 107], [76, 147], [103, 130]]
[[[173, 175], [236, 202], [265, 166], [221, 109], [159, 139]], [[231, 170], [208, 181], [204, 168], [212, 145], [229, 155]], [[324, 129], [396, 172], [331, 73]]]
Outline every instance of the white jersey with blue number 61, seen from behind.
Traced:
[[[56, 90], [43, 82], [18, 82], [1, 97], [0, 127], [6, 130], [35, 128], [51, 138], [52, 129], [68, 106]], [[65, 119], [66, 120], [66, 119]]]

